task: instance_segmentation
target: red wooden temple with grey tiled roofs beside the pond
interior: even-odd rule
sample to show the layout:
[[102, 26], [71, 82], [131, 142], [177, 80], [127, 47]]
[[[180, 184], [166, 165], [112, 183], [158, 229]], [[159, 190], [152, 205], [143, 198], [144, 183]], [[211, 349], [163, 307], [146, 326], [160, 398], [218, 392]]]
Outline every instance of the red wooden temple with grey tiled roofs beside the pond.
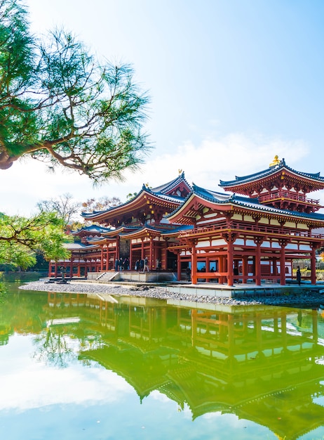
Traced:
[[69, 261], [50, 264], [49, 276], [63, 267], [67, 276], [112, 279], [116, 259], [123, 259], [125, 277], [147, 258], [149, 272], [141, 280], [185, 281], [190, 268], [192, 284], [285, 285], [292, 260], [308, 259], [315, 284], [324, 214], [309, 193], [324, 188], [324, 177], [292, 169], [276, 156], [267, 169], [220, 181], [220, 187], [223, 192], [190, 185], [180, 172], [164, 185], [143, 186], [119, 206], [83, 213], [93, 226], [74, 231], [81, 241], [69, 245]]

